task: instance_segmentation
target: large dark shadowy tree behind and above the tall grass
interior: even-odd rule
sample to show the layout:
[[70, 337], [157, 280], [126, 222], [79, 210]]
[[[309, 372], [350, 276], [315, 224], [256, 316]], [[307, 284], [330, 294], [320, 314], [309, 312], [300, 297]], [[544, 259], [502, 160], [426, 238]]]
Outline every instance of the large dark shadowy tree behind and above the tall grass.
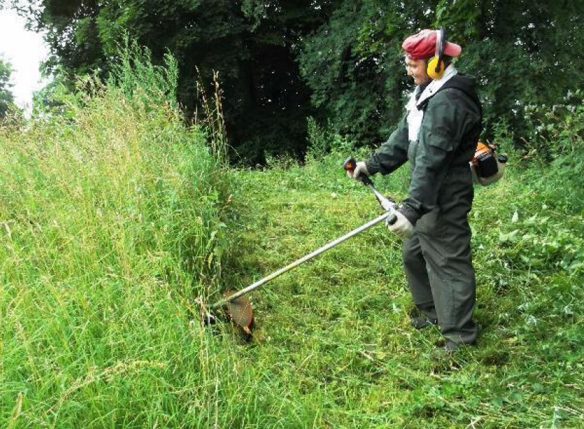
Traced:
[[19, 3], [51, 48], [48, 71], [106, 77], [128, 34], [161, 63], [179, 61], [179, 100], [197, 110], [198, 76], [218, 71], [227, 135], [240, 157], [302, 153], [310, 90], [295, 52], [302, 36], [325, 21], [330, 1], [290, 0], [36, 0]]

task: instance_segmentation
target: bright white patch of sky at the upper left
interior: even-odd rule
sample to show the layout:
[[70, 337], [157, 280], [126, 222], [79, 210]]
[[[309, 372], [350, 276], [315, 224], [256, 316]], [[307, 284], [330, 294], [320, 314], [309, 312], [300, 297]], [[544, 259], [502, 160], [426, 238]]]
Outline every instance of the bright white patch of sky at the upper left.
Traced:
[[25, 20], [14, 10], [0, 10], [0, 56], [12, 64], [12, 94], [29, 110], [32, 92], [43, 87], [38, 67], [49, 53], [41, 34], [25, 30]]

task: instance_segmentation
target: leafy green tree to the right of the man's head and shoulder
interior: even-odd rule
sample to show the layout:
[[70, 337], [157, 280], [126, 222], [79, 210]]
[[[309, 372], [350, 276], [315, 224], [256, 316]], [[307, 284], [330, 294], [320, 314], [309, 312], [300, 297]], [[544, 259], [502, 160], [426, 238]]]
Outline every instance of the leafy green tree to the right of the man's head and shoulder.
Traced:
[[561, 104], [584, 85], [583, 0], [442, 0], [436, 23], [463, 45], [461, 68], [477, 76], [486, 136], [507, 124], [517, 146], [530, 104]]

